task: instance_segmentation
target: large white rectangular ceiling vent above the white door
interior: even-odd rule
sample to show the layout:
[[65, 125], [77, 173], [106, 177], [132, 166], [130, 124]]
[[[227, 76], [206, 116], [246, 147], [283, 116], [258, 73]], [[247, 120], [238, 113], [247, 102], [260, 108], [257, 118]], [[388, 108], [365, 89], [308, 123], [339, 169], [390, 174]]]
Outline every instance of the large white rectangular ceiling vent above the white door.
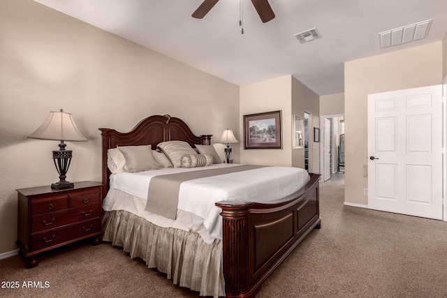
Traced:
[[426, 20], [411, 24], [404, 27], [388, 30], [379, 33], [380, 47], [390, 47], [393, 45], [401, 45], [402, 43], [409, 43], [413, 40], [426, 38], [432, 20]]

